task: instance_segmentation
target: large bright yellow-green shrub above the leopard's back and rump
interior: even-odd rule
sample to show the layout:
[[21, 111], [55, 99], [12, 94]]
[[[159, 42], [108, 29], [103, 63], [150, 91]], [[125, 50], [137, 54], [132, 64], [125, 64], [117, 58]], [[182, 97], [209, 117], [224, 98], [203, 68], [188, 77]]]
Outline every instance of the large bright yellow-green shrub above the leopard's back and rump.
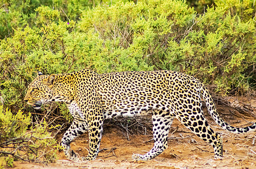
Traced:
[[[126, 63], [132, 58], [132, 64], [146, 65], [147, 70], [191, 74], [220, 95], [243, 94], [254, 87], [255, 7], [253, 1], [215, 3], [199, 16], [182, 1], [96, 7], [84, 12], [79, 30], [95, 32], [127, 51], [126, 60], [119, 62], [124, 68], [130, 69]], [[122, 58], [117, 57], [112, 59]], [[118, 69], [120, 65], [116, 70], [127, 70]]]

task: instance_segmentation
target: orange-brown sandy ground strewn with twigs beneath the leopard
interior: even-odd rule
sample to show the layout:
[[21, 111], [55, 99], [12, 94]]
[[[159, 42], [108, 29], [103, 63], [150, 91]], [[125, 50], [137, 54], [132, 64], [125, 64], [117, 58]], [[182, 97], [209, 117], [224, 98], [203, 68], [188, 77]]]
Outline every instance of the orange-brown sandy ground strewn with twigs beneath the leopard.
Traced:
[[[219, 111], [224, 111], [221, 108]], [[205, 113], [206, 114], [206, 113]], [[255, 118], [223, 116], [232, 126], [244, 127]], [[101, 151], [95, 161], [67, 161], [59, 152], [56, 163], [33, 164], [15, 162], [16, 169], [22, 168], [256, 168], [256, 132], [231, 134], [222, 130], [207, 116], [211, 127], [223, 137], [223, 159], [214, 160], [211, 145], [192, 134], [180, 122], [174, 120], [169, 133], [169, 146], [162, 154], [147, 162], [134, 162], [133, 153], [144, 154], [153, 147], [152, 135], [130, 135], [130, 141], [118, 128], [105, 127], [101, 141]], [[245, 121], [246, 120], [246, 121]], [[176, 128], [178, 126], [178, 128]], [[87, 154], [88, 136], [78, 137], [71, 148], [81, 156]]]

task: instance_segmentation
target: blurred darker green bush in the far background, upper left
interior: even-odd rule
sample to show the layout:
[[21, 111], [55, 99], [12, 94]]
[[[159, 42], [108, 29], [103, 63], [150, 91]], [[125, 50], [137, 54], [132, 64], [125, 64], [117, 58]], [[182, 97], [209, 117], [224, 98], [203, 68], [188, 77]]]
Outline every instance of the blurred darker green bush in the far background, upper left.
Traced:
[[[126, 1], [123, 0], [123, 2]], [[25, 26], [33, 29], [39, 28], [36, 9], [38, 10], [40, 7], [48, 6], [49, 9], [58, 11], [58, 15], [63, 21], [78, 21], [84, 10], [117, 2], [119, 0], [3, 0], [0, 2], [0, 39], [12, 37], [16, 29], [25, 28]]]

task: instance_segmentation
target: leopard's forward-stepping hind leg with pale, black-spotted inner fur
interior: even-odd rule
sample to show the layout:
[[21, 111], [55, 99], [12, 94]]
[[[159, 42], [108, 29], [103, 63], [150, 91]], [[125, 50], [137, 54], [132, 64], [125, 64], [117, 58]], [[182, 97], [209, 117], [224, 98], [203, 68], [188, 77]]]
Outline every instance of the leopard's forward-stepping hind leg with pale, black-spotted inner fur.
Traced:
[[170, 117], [167, 112], [156, 110], [152, 115], [153, 121], [153, 139], [155, 144], [150, 152], [141, 155], [134, 154], [133, 159], [135, 161], [147, 161], [161, 154], [168, 146], [168, 134], [170, 125], [172, 124], [174, 117]]

